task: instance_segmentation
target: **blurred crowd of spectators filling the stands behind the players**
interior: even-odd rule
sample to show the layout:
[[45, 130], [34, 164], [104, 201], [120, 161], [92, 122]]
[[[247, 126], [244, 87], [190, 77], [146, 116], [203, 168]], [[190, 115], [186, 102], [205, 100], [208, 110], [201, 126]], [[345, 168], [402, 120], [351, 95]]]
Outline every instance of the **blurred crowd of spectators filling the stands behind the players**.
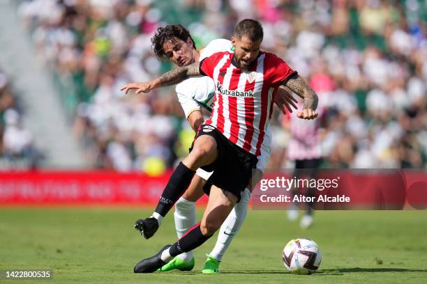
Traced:
[[[264, 26], [262, 47], [320, 97], [323, 167], [426, 168], [424, 0], [33, 0], [18, 13], [40, 58], [73, 82], [73, 129], [96, 167], [162, 173], [193, 139], [174, 88], [119, 91], [171, 68], [151, 52], [158, 26], [185, 19], [202, 48], [252, 17]], [[283, 120], [276, 111], [270, 167], [291, 166]]]

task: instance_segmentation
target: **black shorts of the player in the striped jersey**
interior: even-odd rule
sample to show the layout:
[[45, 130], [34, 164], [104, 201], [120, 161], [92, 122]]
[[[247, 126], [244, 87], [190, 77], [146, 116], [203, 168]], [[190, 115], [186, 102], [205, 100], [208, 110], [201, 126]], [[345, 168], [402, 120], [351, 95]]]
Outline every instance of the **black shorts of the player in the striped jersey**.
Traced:
[[[204, 171], [213, 171], [211, 177], [204, 184], [203, 191], [209, 195], [211, 186], [230, 191], [240, 200], [241, 191], [248, 186], [253, 169], [257, 166], [257, 157], [239, 146], [230, 142], [222, 133], [211, 125], [201, 125], [195, 139], [202, 135], [209, 135], [216, 141], [218, 157], [207, 166]], [[193, 149], [193, 145], [190, 151]]]

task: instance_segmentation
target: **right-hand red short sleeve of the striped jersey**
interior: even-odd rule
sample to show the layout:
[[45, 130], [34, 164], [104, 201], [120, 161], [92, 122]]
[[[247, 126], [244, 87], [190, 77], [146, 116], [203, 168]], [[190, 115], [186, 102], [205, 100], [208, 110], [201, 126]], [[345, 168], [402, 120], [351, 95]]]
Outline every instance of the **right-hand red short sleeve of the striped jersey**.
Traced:
[[265, 76], [274, 88], [285, 84], [288, 79], [298, 74], [282, 58], [271, 53], [266, 54], [265, 70]]

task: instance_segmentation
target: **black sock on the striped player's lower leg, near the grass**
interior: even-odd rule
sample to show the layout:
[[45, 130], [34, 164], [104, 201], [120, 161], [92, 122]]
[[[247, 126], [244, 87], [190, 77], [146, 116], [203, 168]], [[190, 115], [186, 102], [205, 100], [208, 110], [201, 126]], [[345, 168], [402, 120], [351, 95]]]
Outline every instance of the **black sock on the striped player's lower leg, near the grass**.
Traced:
[[193, 251], [193, 249], [197, 248], [197, 246], [201, 246], [204, 242], [206, 242], [212, 235], [204, 236], [202, 235], [202, 230], [200, 230], [200, 223], [193, 228], [190, 228], [186, 235], [183, 235], [178, 242], [172, 244], [169, 248], [169, 253], [171, 256], [177, 256], [181, 253], [186, 253], [188, 251]]

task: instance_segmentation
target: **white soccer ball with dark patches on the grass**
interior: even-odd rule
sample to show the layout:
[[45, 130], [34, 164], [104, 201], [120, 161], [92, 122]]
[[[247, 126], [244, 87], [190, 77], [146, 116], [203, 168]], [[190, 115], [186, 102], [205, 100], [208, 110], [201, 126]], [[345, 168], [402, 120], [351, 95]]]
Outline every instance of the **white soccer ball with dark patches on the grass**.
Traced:
[[313, 274], [320, 267], [322, 254], [311, 239], [292, 239], [283, 248], [283, 264], [293, 274]]

